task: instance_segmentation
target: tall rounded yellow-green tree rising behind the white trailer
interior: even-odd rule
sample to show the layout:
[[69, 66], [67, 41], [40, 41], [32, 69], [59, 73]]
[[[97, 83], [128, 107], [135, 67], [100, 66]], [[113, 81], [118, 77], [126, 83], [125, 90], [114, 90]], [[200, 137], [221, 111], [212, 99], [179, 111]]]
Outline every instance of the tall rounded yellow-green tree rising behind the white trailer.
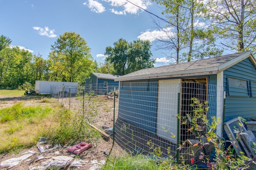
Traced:
[[64, 66], [63, 81], [83, 82], [94, 70], [94, 63], [90, 48], [86, 41], [75, 32], [65, 32], [54, 42], [52, 51], [56, 51], [62, 58]]

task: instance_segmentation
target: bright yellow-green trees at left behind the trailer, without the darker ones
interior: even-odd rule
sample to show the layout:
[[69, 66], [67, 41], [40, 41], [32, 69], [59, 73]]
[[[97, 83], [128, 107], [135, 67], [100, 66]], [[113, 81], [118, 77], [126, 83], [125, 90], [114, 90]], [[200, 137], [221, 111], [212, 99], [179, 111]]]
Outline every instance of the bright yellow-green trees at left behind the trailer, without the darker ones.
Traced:
[[36, 80], [84, 83], [94, 71], [90, 48], [80, 35], [64, 33], [52, 45], [48, 59], [28, 50], [11, 47], [8, 37], [0, 36], [0, 88], [19, 88]]

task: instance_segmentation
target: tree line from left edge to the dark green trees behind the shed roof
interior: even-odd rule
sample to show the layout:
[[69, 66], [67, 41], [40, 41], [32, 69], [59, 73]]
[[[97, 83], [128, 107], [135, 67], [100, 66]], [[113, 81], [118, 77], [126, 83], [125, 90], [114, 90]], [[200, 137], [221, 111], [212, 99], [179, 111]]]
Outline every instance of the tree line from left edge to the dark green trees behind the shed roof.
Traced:
[[[128, 43], [119, 39], [114, 47], [106, 47], [105, 63], [95, 61], [86, 41], [75, 32], [66, 32], [51, 45], [47, 59], [40, 54], [11, 46], [11, 39], [0, 36], [0, 88], [19, 88], [36, 80], [78, 82], [83, 84], [90, 73], [124, 75], [153, 67], [149, 41]], [[124, 48], [124, 49], [123, 49]], [[123, 50], [121, 50], [123, 49]], [[120, 52], [118, 52], [120, 51]], [[120, 69], [119, 62], [122, 63]]]

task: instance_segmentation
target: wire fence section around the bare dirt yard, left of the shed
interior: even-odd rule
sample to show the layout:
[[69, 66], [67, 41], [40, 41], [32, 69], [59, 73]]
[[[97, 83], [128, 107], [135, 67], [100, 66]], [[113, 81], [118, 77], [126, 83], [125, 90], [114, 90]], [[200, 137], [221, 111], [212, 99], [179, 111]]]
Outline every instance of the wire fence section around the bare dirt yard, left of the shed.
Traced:
[[112, 136], [114, 109], [118, 115], [118, 83], [109, 83], [108, 86], [98, 84], [95, 87], [90, 85], [52, 87], [52, 96], [74, 113], [84, 115], [85, 121], [90, 125]]

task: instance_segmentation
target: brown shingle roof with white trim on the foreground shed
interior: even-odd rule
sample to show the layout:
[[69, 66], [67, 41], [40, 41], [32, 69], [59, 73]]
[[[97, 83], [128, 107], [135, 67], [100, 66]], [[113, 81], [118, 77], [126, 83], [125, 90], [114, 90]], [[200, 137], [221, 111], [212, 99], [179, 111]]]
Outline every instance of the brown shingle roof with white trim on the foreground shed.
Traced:
[[115, 80], [125, 81], [147, 78], [168, 78], [191, 75], [217, 74], [218, 72], [223, 71], [224, 69], [248, 57], [252, 57], [255, 61], [255, 58], [250, 51], [244, 51], [241, 53], [222, 55], [198, 61], [190, 61], [187, 63], [173, 64], [153, 68], [144, 68], [142, 70], [138, 70], [130, 74], [121, 76], [119, 78], [116, 78]]

